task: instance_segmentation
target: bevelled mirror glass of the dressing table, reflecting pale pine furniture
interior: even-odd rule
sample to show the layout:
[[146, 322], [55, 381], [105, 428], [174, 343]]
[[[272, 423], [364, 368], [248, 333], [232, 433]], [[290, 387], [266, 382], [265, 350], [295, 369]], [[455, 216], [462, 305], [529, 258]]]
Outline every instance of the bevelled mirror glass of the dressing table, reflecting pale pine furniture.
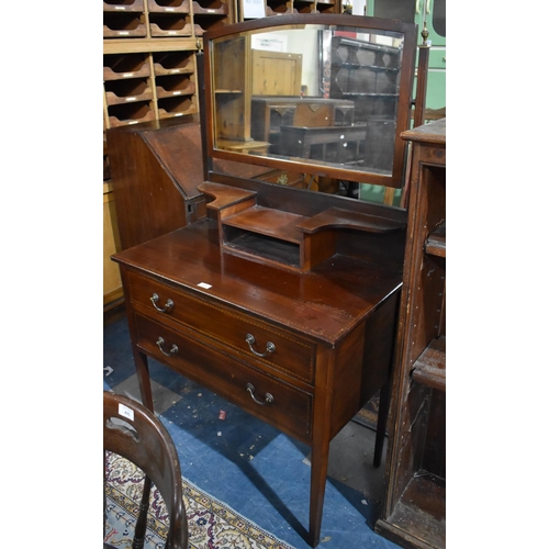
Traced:
[[262, 24], [209, 48], [213, 156], [401, 186], [412, 74], [402, 32]]

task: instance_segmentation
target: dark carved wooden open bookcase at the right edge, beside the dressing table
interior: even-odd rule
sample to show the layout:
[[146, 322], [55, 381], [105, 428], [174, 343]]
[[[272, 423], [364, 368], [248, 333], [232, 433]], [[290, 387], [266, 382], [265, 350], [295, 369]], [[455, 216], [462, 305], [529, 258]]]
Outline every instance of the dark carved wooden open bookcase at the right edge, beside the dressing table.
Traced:
[[404, 548], [446, 546], [446, 119], [413, 146], [385, 508], [376, 529]]

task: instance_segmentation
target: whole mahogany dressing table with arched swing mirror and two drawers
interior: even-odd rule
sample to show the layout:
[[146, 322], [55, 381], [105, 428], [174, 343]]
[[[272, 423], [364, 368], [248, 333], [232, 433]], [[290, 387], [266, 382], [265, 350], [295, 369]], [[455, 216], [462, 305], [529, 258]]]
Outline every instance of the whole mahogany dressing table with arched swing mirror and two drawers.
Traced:
[[284, 176], [402, 186], [416, 43], [413, 24], [343, 14], [204, 33], [205, 213], [113, 256], [145, 405], [152, 357], [307, 445], [311, 547], [329, 442], [378, 392], [381, 462], [406, 212]]

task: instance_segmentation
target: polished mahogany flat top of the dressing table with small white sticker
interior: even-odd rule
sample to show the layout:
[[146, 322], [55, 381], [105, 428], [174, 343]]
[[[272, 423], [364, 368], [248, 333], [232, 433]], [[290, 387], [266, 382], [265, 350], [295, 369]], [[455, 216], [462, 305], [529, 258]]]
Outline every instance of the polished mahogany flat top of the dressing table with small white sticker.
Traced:
[[329, 345], [402, 284], [402, 269], [368, 257], [336, 254], [294, 272], [222, 254], [217, 239], [216, 222], [204, 219], [113, 260]]

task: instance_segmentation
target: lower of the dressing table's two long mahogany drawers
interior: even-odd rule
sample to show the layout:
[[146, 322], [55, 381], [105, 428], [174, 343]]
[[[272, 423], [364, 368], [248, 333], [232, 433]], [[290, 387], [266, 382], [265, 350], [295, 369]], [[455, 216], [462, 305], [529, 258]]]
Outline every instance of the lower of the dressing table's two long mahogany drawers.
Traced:
[[184, 329], [171, 330], [141, 315], [135, 316], [135, 326], [137, 347], [147, 355], [284, 433], [304, 442], [310, 440], [312, 394], [211, 347]]

